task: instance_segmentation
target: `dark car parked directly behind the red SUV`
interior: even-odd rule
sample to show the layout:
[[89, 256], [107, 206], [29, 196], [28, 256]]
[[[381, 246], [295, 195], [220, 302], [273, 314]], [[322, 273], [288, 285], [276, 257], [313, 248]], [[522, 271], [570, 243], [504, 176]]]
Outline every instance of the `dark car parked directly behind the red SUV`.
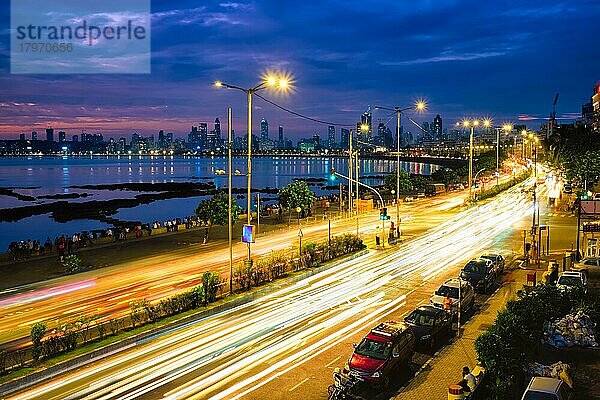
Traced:
[[415, 334], [418, 348], [432, 348], [450, 334], [452, 315], [440, 308], [425, 305], [414, 309], [404, 323]]

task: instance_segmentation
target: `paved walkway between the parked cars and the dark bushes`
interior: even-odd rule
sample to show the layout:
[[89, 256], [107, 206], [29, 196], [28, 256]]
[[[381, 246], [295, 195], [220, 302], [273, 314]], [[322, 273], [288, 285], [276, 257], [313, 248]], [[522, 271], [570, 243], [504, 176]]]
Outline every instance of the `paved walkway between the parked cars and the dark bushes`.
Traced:
[[494, 323], [498, 311], [504, 308], [506, 302], [516, 297], [517, 291], [525, 283], [526, 272], [518, 268], [508, 271], [502, 286], [461, 327], [460, 338], [455, 338], [425, 363], [393, 399], [447, 399], [448, 386], [461, 379], [462, 367], [472, 369], [477, 363], [475, 339]]

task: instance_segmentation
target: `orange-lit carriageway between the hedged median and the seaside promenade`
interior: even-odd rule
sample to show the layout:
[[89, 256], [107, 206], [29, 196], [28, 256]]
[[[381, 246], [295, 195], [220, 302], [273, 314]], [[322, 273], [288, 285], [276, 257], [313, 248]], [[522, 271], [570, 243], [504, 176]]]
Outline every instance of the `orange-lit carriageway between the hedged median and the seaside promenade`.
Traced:
[[[404, 234], [424, 231], [448, 218], [463, 202], [464, 193], [405, 203], [401, 206]], [[390, 214], [395, 214], [395, 207]], [[435, 213], [432, 215], [432, 213]], [[363, 238], [370, 238], [380, 225], [379, 212], [360, 216]], [[392, 215], [392, 220], [395, 215]], [[389, 223], [386, 224], [389, 228]], [[327, 221], [302, 226], [303, 241], [322, 241], [328, 235]], [[332, 221], [332, 234], [356, 232], [356, 219]], [[252, 245], [254, 257], [298, 245], [298, 227], [259, 237]], [[226, 246], [226, 244], [225, 244]], [[235, 243], [234, 260], [246, 257], [246, 246]], [[228, 251], [223, 243], [189, 246], [168, 254], [148, 257], [103, 269], [64, 276], [0, 292], [0, 344], [9, 348], [29, 342], [31, 326], [44, 321], [48, 330], [80, 315], [97, 315], [100, 321], [129, 313], [133, 300], [165, 298], [199, 283], [205, 271], [218, 272], [228, 281]]]

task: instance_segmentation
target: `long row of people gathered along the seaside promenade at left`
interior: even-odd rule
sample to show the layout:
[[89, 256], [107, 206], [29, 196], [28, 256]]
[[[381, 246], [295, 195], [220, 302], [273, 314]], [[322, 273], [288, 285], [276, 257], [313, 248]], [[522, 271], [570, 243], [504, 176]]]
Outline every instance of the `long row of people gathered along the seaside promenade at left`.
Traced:
[[114, 242], [127, 240], [130, 233], [133, 232], [136, 239], [144, 236], [144, 231], [151, 234], [152, 230], [166, 228], [167, 232], [177, 231], [180, 225], [185, 225], [186, 229], [200, 226], [201, 221], [197, 217], [174, 218], [163, 222], [154, 221], [150, 224], [135, 224], [129, 226], [112, 227], [102, 230], [84, 231], [74, 233], [73, 235], [56, 236], [54, 240], [50, 237], [42, 244], [39, 240], [20, 240], [11, 242], [8, 245], [8, 255], [10, 260], [24, 260], [30, 257], [55, 254], [59, 261], [64, 257], [73, 254], [74, 251], [93, 245], [96, 240], [102, 238], [112, 238]]

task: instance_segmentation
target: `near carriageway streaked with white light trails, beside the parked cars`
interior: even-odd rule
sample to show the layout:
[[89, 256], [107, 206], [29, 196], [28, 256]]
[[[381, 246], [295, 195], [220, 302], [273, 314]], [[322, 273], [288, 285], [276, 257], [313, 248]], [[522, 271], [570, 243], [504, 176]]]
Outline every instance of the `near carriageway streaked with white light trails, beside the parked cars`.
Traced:
[[377, 322], [401, 318], [527, 218], [511, 189], [391, 251], [370, 251], [233, 310], [172, 330], [18, 399], [318, 399]]

